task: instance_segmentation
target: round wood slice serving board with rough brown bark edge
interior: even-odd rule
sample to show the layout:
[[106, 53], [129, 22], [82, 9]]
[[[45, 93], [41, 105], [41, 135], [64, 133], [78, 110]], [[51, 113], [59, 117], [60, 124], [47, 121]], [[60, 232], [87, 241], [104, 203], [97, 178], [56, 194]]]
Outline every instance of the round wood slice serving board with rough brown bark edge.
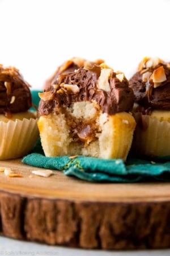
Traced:
[[61, 171], [41, 177], [20, 159], [0, 166], [23, 175], [0, 173], [1, 236], [86, 249], [170, 247], [169, 183], [90, 183]]

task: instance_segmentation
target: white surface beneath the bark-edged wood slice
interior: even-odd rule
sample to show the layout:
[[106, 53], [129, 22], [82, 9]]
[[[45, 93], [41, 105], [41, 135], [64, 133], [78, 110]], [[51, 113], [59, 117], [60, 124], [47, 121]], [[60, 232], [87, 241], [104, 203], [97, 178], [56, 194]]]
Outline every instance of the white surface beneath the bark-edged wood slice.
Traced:
[[169, 256], [170, 250], [84, 250], [63, 246], [42, 245], [0, 237], [0, 255], [16, 256]]

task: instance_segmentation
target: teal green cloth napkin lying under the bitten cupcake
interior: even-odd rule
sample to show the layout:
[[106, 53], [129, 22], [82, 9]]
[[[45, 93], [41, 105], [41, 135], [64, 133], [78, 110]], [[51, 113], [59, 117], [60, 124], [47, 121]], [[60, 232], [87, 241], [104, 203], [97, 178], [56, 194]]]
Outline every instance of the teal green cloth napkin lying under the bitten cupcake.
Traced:
[[[37, 91], [32, 92], [33, 103], [39, 105]], [[153, 160], [153, 159], [152, 159]], [[129, 156], [126, 163], [122, 159], [98, 159], [87, 156], [46, 157], [41, 147], [40, 138], [35, 148], [22, 162], [31, 166], [62, 171], [67, 176], [75, 176], [82, 180], [94, 182], [139, 182], [139, 181], [170, 181], [170, 156], [138, 159]]]

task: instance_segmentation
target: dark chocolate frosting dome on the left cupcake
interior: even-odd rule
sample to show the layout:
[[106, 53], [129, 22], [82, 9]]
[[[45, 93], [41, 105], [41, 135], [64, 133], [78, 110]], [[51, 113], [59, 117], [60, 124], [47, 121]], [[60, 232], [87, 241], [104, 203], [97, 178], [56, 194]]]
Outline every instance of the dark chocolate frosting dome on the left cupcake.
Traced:
[[0, 114], [25, 112], [32, 106], [29, 84], [18, 69], [0, 65]]

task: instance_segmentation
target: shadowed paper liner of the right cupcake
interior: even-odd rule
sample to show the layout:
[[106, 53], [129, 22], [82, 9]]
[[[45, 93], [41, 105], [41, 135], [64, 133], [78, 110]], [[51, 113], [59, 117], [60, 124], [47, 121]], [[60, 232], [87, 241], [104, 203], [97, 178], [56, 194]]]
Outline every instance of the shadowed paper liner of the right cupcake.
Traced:
[[147, 156], [170, 155], [170, 123], [151, 118], [150, 115], [134, 114], [137, 126], [132, 151]]

